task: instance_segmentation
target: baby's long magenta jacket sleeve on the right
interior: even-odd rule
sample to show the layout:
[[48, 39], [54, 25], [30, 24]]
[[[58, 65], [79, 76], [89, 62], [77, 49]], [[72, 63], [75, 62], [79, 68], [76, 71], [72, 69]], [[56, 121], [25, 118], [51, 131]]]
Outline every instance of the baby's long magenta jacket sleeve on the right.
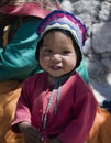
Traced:
[[86, 94], [84, 89], [80, 91], [79, 88], [77, 95], [78, 97], [73, 109], [74, 120], [58, 135], [63, 143], [85, 143], [95, 121], [97, 101], [92, 92], [89, 90]]

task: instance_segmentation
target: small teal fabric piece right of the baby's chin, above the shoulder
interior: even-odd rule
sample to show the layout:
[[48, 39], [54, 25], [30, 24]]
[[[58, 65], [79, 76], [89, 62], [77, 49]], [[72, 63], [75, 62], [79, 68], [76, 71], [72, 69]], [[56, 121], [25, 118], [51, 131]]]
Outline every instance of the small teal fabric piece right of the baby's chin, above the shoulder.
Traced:
[[76, 72], [81, 76], [81, 78], [89, 84], [89, 75], [88, 69], [85, 63], [85, 58], [82, 58], [80, 66], [76, 68]]

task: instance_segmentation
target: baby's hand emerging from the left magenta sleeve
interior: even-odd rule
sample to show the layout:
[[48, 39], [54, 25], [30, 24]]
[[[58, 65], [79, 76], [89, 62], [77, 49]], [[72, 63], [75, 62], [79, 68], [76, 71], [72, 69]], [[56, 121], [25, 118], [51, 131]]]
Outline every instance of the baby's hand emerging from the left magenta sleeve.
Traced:
[[41, 143], [41, 133], [29, 122], [21, 122], [19, 128], [24, 135], [25, 143]]

